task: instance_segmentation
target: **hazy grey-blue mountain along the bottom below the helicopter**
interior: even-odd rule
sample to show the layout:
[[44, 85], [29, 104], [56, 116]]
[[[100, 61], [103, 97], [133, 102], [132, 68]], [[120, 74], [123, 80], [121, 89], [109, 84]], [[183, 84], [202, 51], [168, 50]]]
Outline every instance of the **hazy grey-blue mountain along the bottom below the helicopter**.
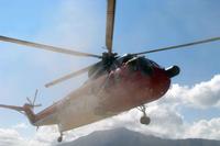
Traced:
[[127, 128], [116, 128], [94, 132], [88, 136], [59, 146], [220, 146], [220, 142], [209, 139], [162, 139]]

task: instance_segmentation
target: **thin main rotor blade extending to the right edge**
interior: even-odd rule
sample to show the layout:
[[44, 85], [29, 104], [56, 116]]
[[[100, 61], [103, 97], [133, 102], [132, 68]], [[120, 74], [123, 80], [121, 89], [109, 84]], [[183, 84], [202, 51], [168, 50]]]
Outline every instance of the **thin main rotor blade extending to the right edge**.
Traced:
[[176, 45], [176, 46], [168, 46], [168, 47], [162, 47], [162, 48], [157, 48], [157, 49], [150, 49], [150, 50], [146, 50], [146, 52], [135, 53], [135, 54], [132, 54], [132, 55], [142, 55], [142, 54], [150, 54], [150, 53], [163, 52], [163, 50], [168, 50], [168, 49], [178, 49], [178, 48], [182, 48], [182, 47], [199, 45], [199, 44], [210, 43], [210, 42], [215, 42], [215, 41], [220, 41], [220, 37], [212, 37], [212, 38], [208, 38], [208, 40], [197, 41], [197, 42]]

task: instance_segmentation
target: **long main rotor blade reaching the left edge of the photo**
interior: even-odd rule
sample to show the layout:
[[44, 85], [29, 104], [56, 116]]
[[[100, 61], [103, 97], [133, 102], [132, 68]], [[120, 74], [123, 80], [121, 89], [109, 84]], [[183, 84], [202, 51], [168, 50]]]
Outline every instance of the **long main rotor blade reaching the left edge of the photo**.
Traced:
[[99, 55], [76, 52], [76, 50], [66, 49], [66, 48], [62, 48], [62, 47], [55, 47], [55, 46], [51, 46], [51, 45], [44, 45], [44, 44], [28, 42], [28, 41], [23, 41], [23, 40], [16, 40], [16, 38], [1, 36], [1, 35], [0, 35], [0, 41], [14, 43], [14, 44], [19, 44], [19, 45], [24, 45], [24, 46], [36, 47], [40, 49], [45, 49], [45, 50], [51, 50], [51, 52], [56, 52], [56, 53], [62, 53], [62, 54], [67, 54], [67, 55], [101, 58], [101, 56], [99, 56]]

